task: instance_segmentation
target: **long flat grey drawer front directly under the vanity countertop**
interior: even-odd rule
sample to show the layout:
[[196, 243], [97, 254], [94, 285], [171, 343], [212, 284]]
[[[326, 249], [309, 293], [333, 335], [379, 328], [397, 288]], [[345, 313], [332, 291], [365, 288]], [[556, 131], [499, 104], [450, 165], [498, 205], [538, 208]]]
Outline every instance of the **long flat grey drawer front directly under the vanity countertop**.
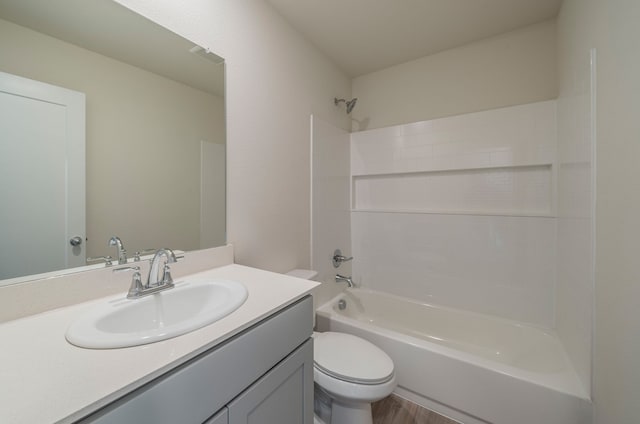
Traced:
[[203, 423], [304, 343], [312, 319], [307, 296], [79, 422]]

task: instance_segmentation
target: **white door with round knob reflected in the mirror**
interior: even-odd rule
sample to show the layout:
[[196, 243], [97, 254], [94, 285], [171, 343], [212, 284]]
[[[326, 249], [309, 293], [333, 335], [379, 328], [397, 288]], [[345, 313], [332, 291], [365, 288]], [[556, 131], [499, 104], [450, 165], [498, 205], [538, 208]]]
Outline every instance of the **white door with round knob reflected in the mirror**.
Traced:
[[0, 199], [0, 279], [84, 265], [83, 93], [0, 72]]

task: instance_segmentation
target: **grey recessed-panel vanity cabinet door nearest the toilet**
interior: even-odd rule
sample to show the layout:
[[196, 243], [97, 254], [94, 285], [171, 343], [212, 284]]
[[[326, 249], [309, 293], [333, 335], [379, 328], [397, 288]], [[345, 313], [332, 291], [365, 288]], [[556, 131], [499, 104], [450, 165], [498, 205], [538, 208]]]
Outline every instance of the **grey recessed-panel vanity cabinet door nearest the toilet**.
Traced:
[[313, 341], [306, 341], [228, 408], [229, 424], [312, 424]]

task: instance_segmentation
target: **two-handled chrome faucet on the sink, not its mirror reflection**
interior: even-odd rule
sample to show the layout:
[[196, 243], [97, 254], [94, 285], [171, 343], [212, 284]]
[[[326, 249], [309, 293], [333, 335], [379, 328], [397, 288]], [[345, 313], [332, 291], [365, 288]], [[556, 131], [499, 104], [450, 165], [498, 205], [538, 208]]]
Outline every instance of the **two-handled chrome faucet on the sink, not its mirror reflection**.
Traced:
[[[166, 260], [162, 267], [162, 275], [160, 276], [159, 268], [163, 258], [166, 258]], [[153, 259], [151, 259], [149, 276], [147, 277], [146, 284], [142, 283], [139, 266], [117, 268], [114, 269], [113, 272], [133, 271], [133, 278], [131, 279], [131, 287], [129, 288], [129, 293], [127, 293], [127, 299], [139, 299], [141, 297], [175, 287], [173, 284], [173, 278], [171, 277], [169, 264], [177, 261], [178, 260], [176, 255], [173, 253], [173, 250], [166, 248], [158, 249], [156, 254], [153, 255]]]

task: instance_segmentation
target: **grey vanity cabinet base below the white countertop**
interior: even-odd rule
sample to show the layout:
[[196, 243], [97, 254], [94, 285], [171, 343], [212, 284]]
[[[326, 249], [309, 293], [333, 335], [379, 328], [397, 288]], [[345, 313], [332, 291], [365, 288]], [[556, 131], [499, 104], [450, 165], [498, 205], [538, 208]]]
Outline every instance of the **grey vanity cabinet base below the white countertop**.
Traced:
[[312, 424], [310, 296], [78, 421]]

